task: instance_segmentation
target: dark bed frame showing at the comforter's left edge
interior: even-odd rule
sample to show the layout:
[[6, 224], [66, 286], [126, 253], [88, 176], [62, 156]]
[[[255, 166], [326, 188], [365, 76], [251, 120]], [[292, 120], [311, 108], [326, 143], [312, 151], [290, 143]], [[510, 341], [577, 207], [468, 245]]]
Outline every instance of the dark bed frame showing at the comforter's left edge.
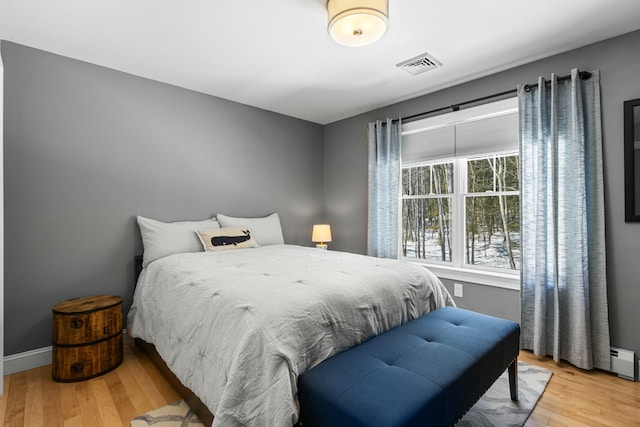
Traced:
[[[138, 282], [138, 276], [142, 271], [142, 255], [134, 256], [134, 267], [135, 267], [135, 278], [136, 283]], [[205, 426], [211, 426], [213, 423], [213, 414], [207, 408], [207, 406], [202, 403], [202, 400], [198, 398], [189, 388], [185, 387], [178, 377], [175, 376], [171, 369], [167, 366], [167, 364], [162, 360], [162, 357], [156, 351], [156, 347], [153, 344], [150, 344], [144, 340], [139, 338], [135, 339], [136, 345], [151, 359], [153, 364], [158, 368], [162, 376], [171, 384], [171, 386], [182, 396], [187, 405], [196, 413], [200, 421]]]

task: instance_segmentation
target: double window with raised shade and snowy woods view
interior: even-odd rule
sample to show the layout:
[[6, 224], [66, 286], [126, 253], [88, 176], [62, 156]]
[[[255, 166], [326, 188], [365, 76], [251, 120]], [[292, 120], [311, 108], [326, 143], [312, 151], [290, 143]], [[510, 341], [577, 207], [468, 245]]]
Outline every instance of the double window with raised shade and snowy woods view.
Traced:
[[[450, 272], [502, 274], [515, 283], [520, 268], [515, 99], [403, 125], [402, 162], [403, 258]], [[469, 276], [461, 280], [483, 283]]]

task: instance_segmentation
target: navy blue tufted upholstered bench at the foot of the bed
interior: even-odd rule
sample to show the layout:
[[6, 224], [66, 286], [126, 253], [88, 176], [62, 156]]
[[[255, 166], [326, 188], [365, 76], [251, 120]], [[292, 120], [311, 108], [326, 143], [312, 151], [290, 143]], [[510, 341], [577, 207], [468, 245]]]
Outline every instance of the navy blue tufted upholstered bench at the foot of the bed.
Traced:
[[518, 399], [520, 326], [445, 307], [299, 377], [304, 427], [451, 426], [509, 368]]

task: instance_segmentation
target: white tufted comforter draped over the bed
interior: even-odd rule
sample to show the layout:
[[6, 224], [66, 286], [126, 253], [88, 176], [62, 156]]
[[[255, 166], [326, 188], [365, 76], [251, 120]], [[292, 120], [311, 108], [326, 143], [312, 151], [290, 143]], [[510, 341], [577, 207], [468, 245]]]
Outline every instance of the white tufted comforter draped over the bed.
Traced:
[[152, 262], [127, 328], [155, 344], [214, 426], [291, 426], [299, 374], [444, 305], [452, 298], [418, 265], [276, 245]]

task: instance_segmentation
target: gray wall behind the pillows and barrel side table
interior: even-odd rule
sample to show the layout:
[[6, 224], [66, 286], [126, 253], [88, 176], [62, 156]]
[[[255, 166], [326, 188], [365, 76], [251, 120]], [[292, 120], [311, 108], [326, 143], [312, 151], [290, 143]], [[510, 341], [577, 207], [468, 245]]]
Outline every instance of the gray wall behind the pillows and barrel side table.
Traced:
[[51, 307], [121, 295], [137, 214], [278, 212], [285, 241], [321, 219], [323, 127], [2, 42], [5, 353], [51, 345]]

